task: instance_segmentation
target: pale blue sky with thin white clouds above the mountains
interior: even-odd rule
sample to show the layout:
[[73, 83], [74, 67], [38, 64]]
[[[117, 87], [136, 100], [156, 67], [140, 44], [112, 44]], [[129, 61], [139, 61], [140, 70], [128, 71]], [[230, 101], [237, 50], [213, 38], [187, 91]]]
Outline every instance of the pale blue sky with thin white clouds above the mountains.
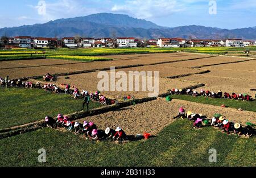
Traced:
[[[46, 11], [42, 5], [46, 3]], [[210, 0], [9, 0], [1, 1], [0, 28], [94, 13], [127, 14], [160, 26], [203, 25], [219, 28], [256, 26], [256, 0], [216, 0], [217, 14], [209, 14]]]

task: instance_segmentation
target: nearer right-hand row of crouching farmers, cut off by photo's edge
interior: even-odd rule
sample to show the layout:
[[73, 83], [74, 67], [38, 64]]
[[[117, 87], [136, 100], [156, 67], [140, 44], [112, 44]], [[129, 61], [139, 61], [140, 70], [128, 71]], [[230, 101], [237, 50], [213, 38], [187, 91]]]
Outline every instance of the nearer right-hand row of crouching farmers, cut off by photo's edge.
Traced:
[[180, 107], [179, 113], [175, 118], [188, 119], [189, 121], [193, 121], [193, 127], [195, 129], [199, 129], [203, 126], [213, 126], [218, 127], [222, 131], [227, 134], [234, 133], [238, 136], [246, 135], [247, 137], [255, 135], [255, 126], [253, 123], [247, 122], [245, 127], [242, 127], [240, 123], [230, 122], [224, 115], [214, 114], [213, 118], [208, 119], [204, 117], [202, 114], [192, 113], [192, 111], [187, 111]]

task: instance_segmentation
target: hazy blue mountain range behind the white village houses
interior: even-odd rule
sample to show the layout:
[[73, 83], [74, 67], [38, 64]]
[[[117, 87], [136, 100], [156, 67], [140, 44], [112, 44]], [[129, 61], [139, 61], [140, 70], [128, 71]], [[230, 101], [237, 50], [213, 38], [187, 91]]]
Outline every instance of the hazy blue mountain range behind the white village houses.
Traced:
[[133, 36], [135, 38], [185, 38], [185, 39], [256, 39], [256, 27], [234, 30], [180, 26], [162, 27], [144, 19], [128, 15], [100, 13], [76, 18], [58, 19], [43, 24], [0, 28], [0, 36], [64, 37], [82, 36], [92, 38]]

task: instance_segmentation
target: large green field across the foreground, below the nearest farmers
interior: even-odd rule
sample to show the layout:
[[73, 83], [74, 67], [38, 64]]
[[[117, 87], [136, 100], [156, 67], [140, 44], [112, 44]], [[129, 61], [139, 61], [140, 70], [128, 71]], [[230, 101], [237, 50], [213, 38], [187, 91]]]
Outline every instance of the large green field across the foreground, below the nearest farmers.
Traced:
[[[177, 120], [158, 136], [126, 144], [93, 142], [73, 133], [41, 129], [0, 140], [0, 166], [255, 166], [255, 138], [237, 138], [212, 127], [192, 129]], [[38, 150], [46, 150], [46, 163]], [[210, 163], [209, 149], [217, 151]]]

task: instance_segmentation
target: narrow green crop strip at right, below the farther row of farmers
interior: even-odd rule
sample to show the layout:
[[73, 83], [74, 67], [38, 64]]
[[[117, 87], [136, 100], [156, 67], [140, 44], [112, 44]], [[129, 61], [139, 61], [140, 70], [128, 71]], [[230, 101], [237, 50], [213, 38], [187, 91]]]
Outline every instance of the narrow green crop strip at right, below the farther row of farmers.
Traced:
[[226, 105], [226, 107], [232, 107], [235, 109], [239, 109], [241, 107], [242, 110], [254, 111], [256, 112], [256, 100], [254, 101], [238, 101], [238, 100], [229, 100], [225, 98], [207, 98], [207, 97], [193, 97], [188, 95], [171, 95], [172, 99], [185, 100], [191, 102], [198, 102], [200, 104], [208, 104], [214, 106], [221, 106], [222, 104]]

